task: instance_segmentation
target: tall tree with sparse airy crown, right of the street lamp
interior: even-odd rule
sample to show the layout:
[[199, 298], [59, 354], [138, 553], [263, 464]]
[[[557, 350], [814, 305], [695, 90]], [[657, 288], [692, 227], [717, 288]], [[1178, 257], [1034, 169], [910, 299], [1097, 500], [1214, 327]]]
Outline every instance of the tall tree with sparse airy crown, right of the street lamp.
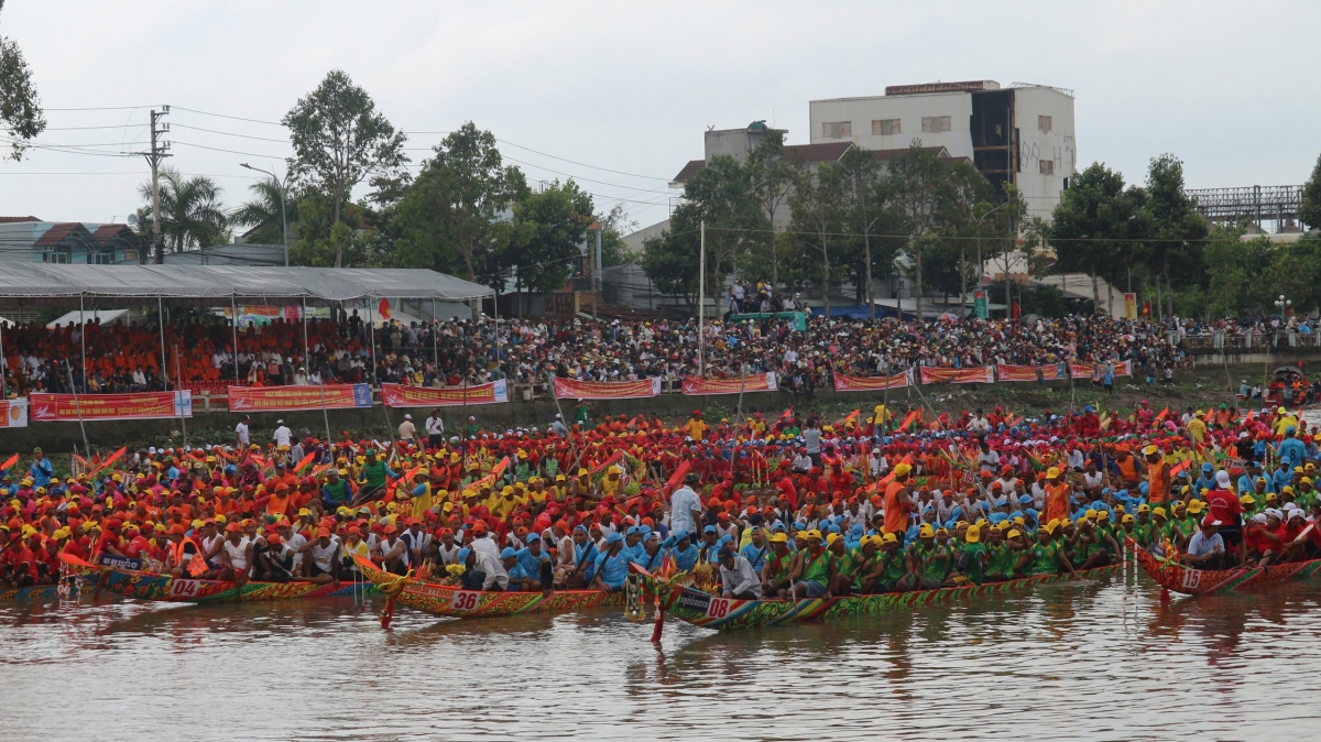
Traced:
[[[281, 123], [293, 145], [289, 178], [325, 191], [333, 199], [336, 222], [341, 203], [363, 178], [388, 181], [408, 161], [403, 132], [395, 131], [367, 91], [342, 70], [330, 70]], [[336, 267], [342, 261], [343, 255], [337, 253]]]

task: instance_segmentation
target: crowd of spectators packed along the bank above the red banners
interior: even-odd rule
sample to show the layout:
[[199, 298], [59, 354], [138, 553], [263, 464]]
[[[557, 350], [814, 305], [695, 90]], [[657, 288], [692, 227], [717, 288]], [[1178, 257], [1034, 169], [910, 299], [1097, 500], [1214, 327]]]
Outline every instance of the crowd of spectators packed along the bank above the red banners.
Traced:
[[[3, 331], [5, 392], [81, 393], [161, 391], [207, 382], [247, 386], [403, 383], [429, 387], [494, 379], [544, 383], [680, 379], [740, 371], [781, 375], [786, 389], [828, 386], [831, 375], [880, 375], [909, 366], [966, 368], [993, 363], [1055, 364], [1131, 360], [1155, 379], [1178, 366], [1180, 335], [1145, 321], [1070, 316], [1025, 321], [810, 317], [712, 320], [701, 343], [694, 320], [449, 320], [387, 322], [369, 333], [357, 313], [334, 320], [248, 323], [236, 334], [226, 318], [168, 325], [22, 325]], [[1172, 339], [1174, 342], [1172, 342]], [[164, 351], [164, 367], [161, 364]], [[83, 375], [86, 368], [86, 378]]]

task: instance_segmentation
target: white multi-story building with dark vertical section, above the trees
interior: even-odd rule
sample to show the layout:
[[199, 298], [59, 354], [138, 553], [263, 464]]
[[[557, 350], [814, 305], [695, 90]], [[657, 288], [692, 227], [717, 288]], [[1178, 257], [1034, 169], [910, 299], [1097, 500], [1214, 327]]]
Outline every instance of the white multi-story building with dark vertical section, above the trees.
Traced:
[[1011, 182], [1029, 214], [1050, 218], [1078, 160], [1073, 92], [995, 81], [904, 84], [885, 95], [808, 104], [811, 143], [893, 151], [921, 139], [967, 157], [992, 185]]

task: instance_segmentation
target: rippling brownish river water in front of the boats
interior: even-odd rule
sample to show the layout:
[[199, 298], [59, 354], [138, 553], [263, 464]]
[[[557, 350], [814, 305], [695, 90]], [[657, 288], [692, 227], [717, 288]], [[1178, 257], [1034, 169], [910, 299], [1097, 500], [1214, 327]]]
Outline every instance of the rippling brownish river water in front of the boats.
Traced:
[[0, 605], [3, 739], [1317, 739], [1321, 585], [1141, 576], [717, 634], [351, 601]]

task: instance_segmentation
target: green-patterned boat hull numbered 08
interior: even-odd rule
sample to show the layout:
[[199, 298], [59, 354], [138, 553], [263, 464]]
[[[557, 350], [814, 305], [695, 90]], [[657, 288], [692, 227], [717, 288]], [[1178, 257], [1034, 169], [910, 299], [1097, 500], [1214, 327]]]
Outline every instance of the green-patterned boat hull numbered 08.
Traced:
[[[664, 613], [674, 615], [679, 621], [700, 626], [703, 628], [754, 628], [758, 626], [781, 626], [785, 623], [801, 623], [806, 621], [830, 621], [847, 618], [851, 615], [875, 615], [884, 611], [925, 606], [935, 603], [948, 603], [979, 598], [982, 595], [999, 595], [1030, 588], [1033, 585], [1046, 585], [1050, 582], [1071, 582], [1089, 580], [1118, 572], [1122, 565], [1098, 566], [1082, 572], [1065, 574], [1038, 574], [1033, 577], [1020, 577], [1004, 582], [985, 582], [982, 585], [962, 585], [956, 588], [935, 588], [931, 590], [909, 590], [904, 593], [880, 593], [876, 595], [848, 595], [841, 598], [766, 598], [744, 601], [738, 598], [723, 598], [691, 586], [667, 584], [658, 580], [658, 589], [662, 591]], [[668, 594], [667, 594], [668, 593]]]

